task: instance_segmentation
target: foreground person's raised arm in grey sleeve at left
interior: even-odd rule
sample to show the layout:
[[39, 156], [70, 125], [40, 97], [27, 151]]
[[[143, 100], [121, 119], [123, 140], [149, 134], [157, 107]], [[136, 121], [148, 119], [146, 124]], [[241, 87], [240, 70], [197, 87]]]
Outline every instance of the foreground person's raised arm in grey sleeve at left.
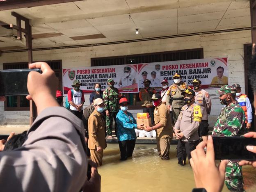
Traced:
[[38, 117], [23, 146], [0, 153], [1, 191], [79, 191], [87, 173], [82, 121], [57, 103], [58, 80], [50, 66], [29, 67], [42, 70], [27, 77], [27, 99], [37, 105]]

